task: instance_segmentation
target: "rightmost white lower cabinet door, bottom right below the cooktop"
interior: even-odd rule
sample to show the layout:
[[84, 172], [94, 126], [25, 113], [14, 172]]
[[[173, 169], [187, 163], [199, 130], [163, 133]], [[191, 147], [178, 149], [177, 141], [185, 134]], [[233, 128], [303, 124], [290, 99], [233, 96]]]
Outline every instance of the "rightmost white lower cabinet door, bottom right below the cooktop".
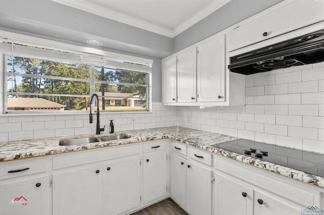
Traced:
[[288, 215], [301, 214], [301, 210], [310, 205], [300, 205], [276, 194], [255, 191], [254, 213], [256, 215]]

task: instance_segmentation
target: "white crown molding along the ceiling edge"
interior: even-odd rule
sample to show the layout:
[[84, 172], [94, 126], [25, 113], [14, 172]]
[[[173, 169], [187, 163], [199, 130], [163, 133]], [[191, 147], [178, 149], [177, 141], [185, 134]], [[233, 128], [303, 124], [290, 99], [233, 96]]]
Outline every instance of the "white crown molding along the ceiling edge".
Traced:
[[194, 15], [190, 19], [188, 19], [186, 22], [178, 26], [177, 28], [171, 30], [168, 28], [160, 27], [148, 22], [145, 22], [143, 20], [139, 20], [130, 16], [127, 16], [125, 14], [117, 13], [115, 11], [109, 10], [109, 9], [103, 9], [101, 7], [98, 7], [86, 0], [51, 0], [56, 3], [60, 3], [69, 7], [73, 7], [79, 10], [83, 10], [92, 14], [96, 14], [102, 17], [105, 17], [107, 19], [111, 19], [117, 22], [121, 22], [127, 25], [131, 25], [137, 28], [141, 28], [153, 33], [157, 33], [160, 35], [164, 35], [167, 37], [175, 37], [181, 32], [185, 31], [195, 23], [199, 22], [201, 19], [204, 19], [217, 9], [221, 8], [223, 5], [227, 4], [231, 0], [218, 0], [213, 2], [212, 4], [208, 5], [204, 8], [204, 10], [200, 11], [198, 14]]

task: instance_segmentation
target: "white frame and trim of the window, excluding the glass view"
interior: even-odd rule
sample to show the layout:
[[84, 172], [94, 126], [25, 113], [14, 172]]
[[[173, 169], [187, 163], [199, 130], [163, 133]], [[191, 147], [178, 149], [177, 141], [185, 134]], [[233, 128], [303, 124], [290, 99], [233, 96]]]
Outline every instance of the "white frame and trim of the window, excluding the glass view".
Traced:
[[[15, 51], [12, 48], [3, 48], [0, 46], [0, 69], [2, 69], [1, 75], [0, 75], [0, 83], [2, 83], [3, 87], [0, 87], [0, 100], [1, 100], [1, 105], [0, 105], [0, 116], [9, 116], [9, 115], [14, 115], [16, 116], [17, 114], [19, 115], [48, 115], [49, 113], [51, 114], [57, 114], [57, 115], [74, 115], [74, 114], [85, 114], [89, 111], [7, 111], [7, 79], [6, 79], [6, 71], [7, 71], [7, 55], [13, 55], [17, 57], [26, 57], [26, 58], [35, 58], [35, 59], [42, 59], [42, 60], [51, 60], [51, 61], [67, 61], [70, 63], [77, 63], [77, 64], [85, 64], [89, 65], [91, 68], [91, 78], [90, 78], [90, 95], [94, 93], [94, 67], [95, 66], [109, 66], [109, 67], [115, 67], [118, 69], [126, 69], [126, 70], [134, 70], [138, 72], [144, 72], [147, 74], [147, 94], [146, 94], [146, 110], [145, 111], [103, 111], [103, 113], [150, 113], [152, 112], [152, 63], [153, 61], [150, 59], [145, 59], [145, 58], [139, 58], [139, 57], [134, 57], [134, 56], [128, 56], [128, 55], [123, 55], [119, 53], [114, 53], [114, 52], [109, 52], [109, 51], [104, 51], [100, 49], [95, 49], [95, 48], [89, 48], [89, 47], [84, 47], [84, 46], [77, 46], [77, 45], [71, 45], [67, 43], [61, 43], [61, 42], [56, 42], [52, 40], [47, 40], [47, 39], [42, 39], [42, 38], [37, 38], [37, 37], [32, 37], [32, 36], [27, 36], [27, 35], [22, 35], [22, 34], [16, 34], [12, 32], [7, 32], [7, 31], [1, 31], [0, 30], [0, 44], [2, 43], [2, 40], [14, 40], [15, 43], [22, 43], [22, 44], [28, 44], [31, 46], [41, 46], [44, 48], [49, 48], [49, 49], [55, 49], [55, 50], [62, 50], [66, 51], [69, 53], [77, 55], [81, 55], [82, 61], [75, 60], [71, 61], [70, 59], [66, 60], [64, 58], [65, 53], [61, 52], [59, 55], [56, 55], [53, 57], [53, 53], [50, 53], [48, 56], [46, 56], [46, 52], [50, 52], [49, 50], [42, 50], [39, 51], [37, 50], [36, 52], [34, 50], [27, 50], [23, 51], [23, 53], [18, 54], [16, 53], [17, 50]], [[19, 50], [18, 50], [19, 51]], [[39, 55], [39, 52], [42, 52], [42, 55]], [[60, 55], [62, 54], [62, 55]], [[98, 57], [98, 62], [96, 62], [96, 59]], [[95, 61], [93, 60], [95, 58]], [[102, 61], [100, 58], [105, 58], [105, 59], [116, 59], [119, 61], [109, 61], [109, 64], [104, 64], [106, 61]], [[127, 68], [120, 68], [125, 66], [120, 64], [120, 61], [127, 61], [130, 63], [135, 63], [133, 64], [127, 64]], [[142, 64], [141, 68], [139, 68], [139, 64]], [[145, 66], [144, 66], [145, 65]], [[146, 66], [150, 65], [150, 66]], [[65, 78], [64, 78], [65, 79]], [[67, 78], [68, 79], [68, 78]], [[71, 78], [72, 80], [73, 78]], [[79, 79], [78, 81], [87, 81], [89, 80], [83, 80]], [[106, 82], [108, 83], [108, 82]], [[88, 97], [90, 97], [90, 95]], [[74, 96], [74, 95], [70, 95]], [[100, 95], [98, 95], [100, 97]], [[81, 97], [81, 96], [79, 96]]]

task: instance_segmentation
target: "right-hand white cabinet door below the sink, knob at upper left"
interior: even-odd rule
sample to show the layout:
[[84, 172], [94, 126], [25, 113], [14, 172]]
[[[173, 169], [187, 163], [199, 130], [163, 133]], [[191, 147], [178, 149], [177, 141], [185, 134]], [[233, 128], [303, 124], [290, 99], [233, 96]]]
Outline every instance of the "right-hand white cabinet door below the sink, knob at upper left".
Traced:
[[140, 157], [104, 165], [104, 214], [140, 205]]

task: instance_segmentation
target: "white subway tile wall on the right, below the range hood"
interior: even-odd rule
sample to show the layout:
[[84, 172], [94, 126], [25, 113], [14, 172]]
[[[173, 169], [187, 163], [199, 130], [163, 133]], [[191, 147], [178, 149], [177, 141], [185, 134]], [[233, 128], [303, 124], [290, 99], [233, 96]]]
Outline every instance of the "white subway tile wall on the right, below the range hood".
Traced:
[[246, 105], [177, 109], [178, 125], [324, 153], [324, 62], [246, 76]]

